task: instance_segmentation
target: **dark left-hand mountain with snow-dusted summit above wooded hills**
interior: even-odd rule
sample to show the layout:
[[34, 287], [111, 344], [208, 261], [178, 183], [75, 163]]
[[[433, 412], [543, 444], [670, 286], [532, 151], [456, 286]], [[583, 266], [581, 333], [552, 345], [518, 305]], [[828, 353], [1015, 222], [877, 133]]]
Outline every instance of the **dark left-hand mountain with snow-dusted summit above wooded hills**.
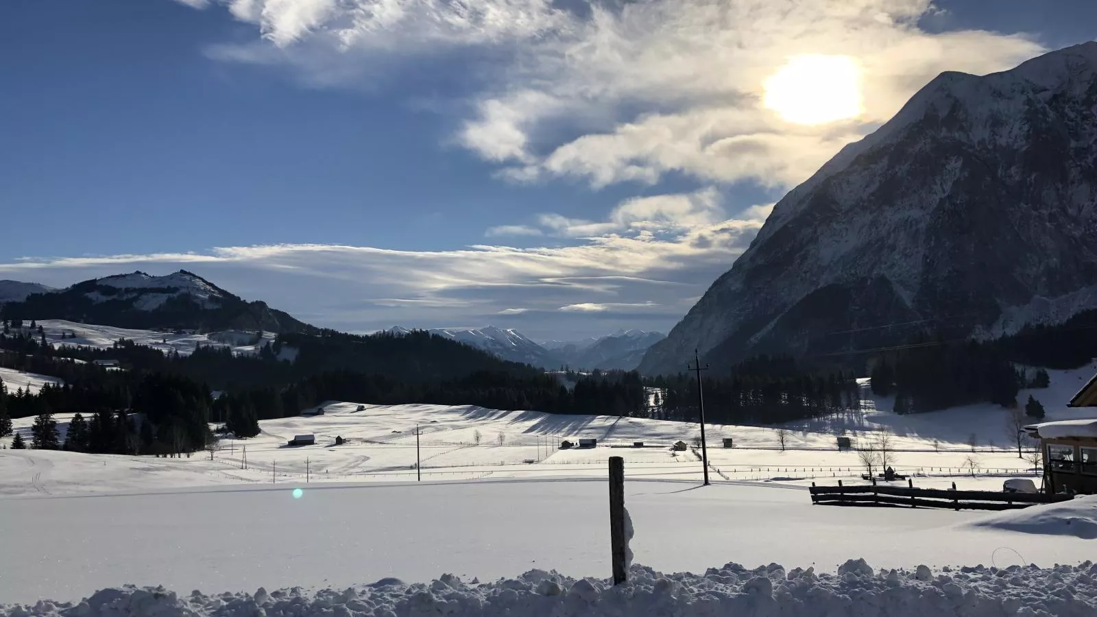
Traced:
[[116, 274], [64, 290], [35, 283], [2, 289], [14, 290], [14, 300], [0, 306], [0, 316], [8, 319], [67, 319], [140, 329], [318, 332], [264, 302], [247, 302], [185, 270], [165, 277]]

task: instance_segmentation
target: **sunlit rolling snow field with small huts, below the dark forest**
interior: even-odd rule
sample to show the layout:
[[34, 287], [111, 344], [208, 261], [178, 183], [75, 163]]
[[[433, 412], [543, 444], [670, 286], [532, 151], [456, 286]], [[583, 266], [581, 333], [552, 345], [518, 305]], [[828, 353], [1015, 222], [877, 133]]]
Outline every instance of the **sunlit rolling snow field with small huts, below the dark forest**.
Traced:
[[[1032, 391], [1044, 402], [1049, 420], [1087, 415], [1086, 410], [1067, 410], [1065, 404], [1090, 370], [1097, 367], [1052, 371], [1051, 388]], [[871, 399], [867, 385], [864, 393], [866, 405], [859, 413], [789, 425], [785, 451], [780, 450], [776, 427], [709, 425], [711, 478], [795, 485], [860, 481], [863, 469], [857, 452], [839, 451], [835, 436], [845, 434], [855, 441], [866, 441], [882, 433], [892, 435], [892, 465], [912, 474], [917, 486], [947, 487], [955, 482], [960, 489], [1000, 490], [1007, 478], [1032, 475], [1030, 462], [1018, 458], [1006, 435], [1004, 410], [972, 405], [898, 416], [891, 413], [889, 401]], [[1027, 395], [1025, 391], [1020, 399]], [[679, 439], [692, 442], [697, 425], [474, 406], [328, 403], [324, 407], [325, 414], [319, 416], [263, 420], [258, 437], [223, 441], [214, 460], [204, 452], [183, 459], [150, 459], [0, 451], [0, 494], [145, 491], [272, 480], [399, 482], [420, 475], [425, 480], [462, 481], [601, 478], [611, 456], [624, 458], [630, 478], [701, 479], [699, 457], [669, 449]], [[56, 419], [64, 433], [69, 416]], [[30, 438], [32, 423], [33, 418], [14, 420], [25, 438]], [[421, 430], [418, 470], [416, 426]], [[286, 446], [295, 435], [304, 434], [315, 435], [316, 445]], [[974, 453], [966, 444], [971, 434], [977, 436]], [[347, 442], [336, 446], [336, 437]], [[724, 437], [732, 437], [735, 447], [722, 448]], [[564, 439], [578, 438], [596, 438], [599, 446], [559, 449]], [[634, 441], [643, 441], [645, 447], [631, 447]], [[34, 462], [33, 471], [27, 458]], [[94, 464], [88, 464], [89, 460]]]

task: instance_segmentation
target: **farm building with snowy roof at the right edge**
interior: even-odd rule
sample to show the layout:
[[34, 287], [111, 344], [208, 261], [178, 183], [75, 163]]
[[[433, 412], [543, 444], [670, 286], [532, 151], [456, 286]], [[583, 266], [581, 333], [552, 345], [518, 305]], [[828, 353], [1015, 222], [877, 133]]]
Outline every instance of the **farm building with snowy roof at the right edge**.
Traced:
[[[1097, 377], [1067, 406], [1097, 407]], [[1048, 493], [1097, 493], [1097, 417], [1045, 422], [1025, 428], [1040, 439]]]

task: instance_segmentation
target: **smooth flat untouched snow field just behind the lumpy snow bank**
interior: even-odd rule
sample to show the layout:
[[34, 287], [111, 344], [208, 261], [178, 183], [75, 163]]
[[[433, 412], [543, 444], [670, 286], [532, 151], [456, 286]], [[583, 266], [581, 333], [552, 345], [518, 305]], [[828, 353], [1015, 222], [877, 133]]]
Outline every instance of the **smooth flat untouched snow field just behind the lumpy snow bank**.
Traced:
[[[19, 529], [4, 534], [0, 601], [71, 601], [123, 583], [346, 588], [532, 569], [601, 577], [610, 570], [606, 495], [604, 481], [570, 479], [0, 500], [0, 520]], [[625, 502], [635, 561], [663, 571], [734, 561], [836, 572], [850, 558], [878, 568], [1052, 566], [1093, 557], [1077, 537], [972, 527], [998, 515], [813, 506], [800, 489], [633, 480]]]

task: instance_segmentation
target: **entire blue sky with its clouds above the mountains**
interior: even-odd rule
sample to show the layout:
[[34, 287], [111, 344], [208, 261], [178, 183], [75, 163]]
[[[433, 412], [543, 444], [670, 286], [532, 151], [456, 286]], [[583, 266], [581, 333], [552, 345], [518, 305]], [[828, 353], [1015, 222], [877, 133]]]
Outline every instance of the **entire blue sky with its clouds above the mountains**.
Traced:
[[[0, 278], [185, 268], [349, 330], [666, 332], [937, 72], [1092, 38], [1097, 7], [1054, 7], [10, 0]], [[856, 61], [856, 116], [767, 108], [805, 54]]]

